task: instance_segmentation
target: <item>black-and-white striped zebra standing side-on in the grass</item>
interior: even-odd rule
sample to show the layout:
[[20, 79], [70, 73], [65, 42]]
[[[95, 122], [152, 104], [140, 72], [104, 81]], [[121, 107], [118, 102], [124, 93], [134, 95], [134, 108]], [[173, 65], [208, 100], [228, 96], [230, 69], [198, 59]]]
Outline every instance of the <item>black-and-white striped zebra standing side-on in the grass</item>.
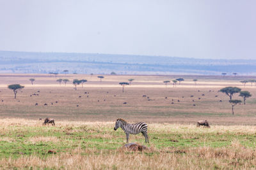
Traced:
[[148, 125], [144, 122], [136, 123], [136, 124], [128, 124], [124, 119], [118, 118], [116, 120], [116, 125], [114, 127], [114, 130], [118, 129], [118, 127], [121, 127], [125, 134], [126, 134], [126, 141], [129, 142], [129, 134], [139, 134], [140, 132], [145, 137], [145, 143], [149, 143], [148, 141]]

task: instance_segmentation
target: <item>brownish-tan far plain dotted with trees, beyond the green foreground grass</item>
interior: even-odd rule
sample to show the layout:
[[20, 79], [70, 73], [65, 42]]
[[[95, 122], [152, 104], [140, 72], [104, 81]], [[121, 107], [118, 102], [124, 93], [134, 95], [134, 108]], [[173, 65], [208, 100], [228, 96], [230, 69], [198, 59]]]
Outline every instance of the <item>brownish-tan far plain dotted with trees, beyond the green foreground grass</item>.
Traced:
[[[29, 84], [31, 77], [35, 78], [35, 85]], [[60, 74], [58, 78], [65, 78], [65, 75]], [[91, 78], [90, 75], [68, 74], [67, 78], [70, 81], [74, 78], [85, 78], [88, 82], [84, 83], [83, 88], [79, 85], [76, 91], [71, 82], [68, 82], [67, 87], [63, 84], [60, 86], [55, 77], [47, 74], [0, 75], [0, 117], [33, 120], [52, 117], [57, 122], [58, 120], [108, 122], [122, 117], [131, 122], [176, 124], [194, 124], [199, 119], [207, 119], [211, 124], [222, 125], [253, 125], [256, 121], [256, 108], [253, 107], [256, 103], [256, 87], [250, 85], [242, 87], [243, 90], [249, 90], [252, 97], [247, 99], [245, 106], [235, 107], [234, 117], [231, 115], [228, 97], [218, 92], [221, 87], [228, 85], [241, 87], [239, 79], [185, 76], [185, 81], [181, 85], [165, 87], [164, 80], [173, 80], [178, 76], [105, 75], [101, 83], [97, 75]], [[126, 86], [125, 92], [122, 93], [122, 87], [118, 82], [127, 81], [129, 78], [134, 78], [134, 81], [132, 85]], [[198, 85], [194, 85], [193, 78], [198, 79]], [[13, 99], [12, 90], [7, 89], [7, 85], [12, 83], [25, 85], [22, 92], [17, 94], [16, 100]], [[203, 94], [205, 96], [202, 96]], [[143, 95], [149, 99], [142, 97]], [[241, 99], [238, 95], [234, 98]], [[38, 106], [35, 106], [35, 103], [38, 103]], [[44, 106], [45, 103], [47, 106]]]

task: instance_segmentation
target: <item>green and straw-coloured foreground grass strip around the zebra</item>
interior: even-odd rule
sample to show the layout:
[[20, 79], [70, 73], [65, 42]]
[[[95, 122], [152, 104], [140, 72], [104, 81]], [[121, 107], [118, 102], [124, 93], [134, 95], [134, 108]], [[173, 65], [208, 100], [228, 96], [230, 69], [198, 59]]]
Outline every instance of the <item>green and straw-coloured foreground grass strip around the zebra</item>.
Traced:
[[[125, 134], [113, 122], [2, 119], [0, 168], [42, 169], [244, 169], [256, 166], [256, 127], [148, 124], [144, 152], [122, 148]], [[130, 141], [143, 144], [142, 135]], [[49, 153], [49, 151], [52, 151]]]

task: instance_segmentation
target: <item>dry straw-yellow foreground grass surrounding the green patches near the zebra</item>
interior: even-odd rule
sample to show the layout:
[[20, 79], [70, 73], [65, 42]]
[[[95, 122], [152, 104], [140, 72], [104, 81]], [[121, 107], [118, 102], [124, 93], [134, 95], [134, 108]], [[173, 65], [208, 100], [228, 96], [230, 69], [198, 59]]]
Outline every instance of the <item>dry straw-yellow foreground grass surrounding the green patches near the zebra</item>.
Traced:
[[[0, 120], [0, 134], [9, 131], [21, 132], [28, 131], [28, 127], [45, 129], [44, 131], [65, 131], [76, 132], [77, 128], [84, 127], [89, 130], [87, 138], [113, 138], [113, 125], [115, 122], [68, 122], [60, 121], [56, 127], [43, 127], [38, 124], [39, 121], [17, 118], [4, 118]], [[157, 140], [153, 138], [152, 133], [156, 134], [181, 134], [184, 139], [206, 136], [209, 134], [216, 135], [236, 135], [255, 136], [256, 127], [246, 125], [213, 125], [210, 129], [196, 128], [195, 125], [179, 124], [148, 124], [150, 141]], [[37, 130], [36, 130], [37, 129]], [[58, 130], [60, 129], [60, 130]], [[90, 129], [93, 129], [90, 131]], [[102, 129], [109, 129], [108, 131]], [[105, 134], [93, 134], [93, 131], [104, 131]], [[116, 132], [115, 132], [116, 133]], [[114, 133], [114, 134], [115, 134]], [[12, 138], [2, 138], [5, 141], [12, 142]], [[157, 135], [158, 136], [158, 135]], [[226, 136], [227, 137], [227, 136]], [[132, 136], [132, 139], [138, 139], [141, 136]], [[166, 136], [168, 138], [168, 136]], [[224, 138], [224, 137], [223, 137]], [[226, 138], [225, 138], [226, 139]], [[66, 138], [57, 138], [56, 136], [34, 136], [25, 139], [26, 143], [37, 142], [65, 142]], [[93, 145], [93, 143], [86, 143]], [[108, 142], [106, 142], [108, 143]], [[109, 143], [108, 143], [109, 144]], [[72, 144], [73, 145], [73, 144]], [[94, 144], [95, 145], [95, 144]], [[107, 147], [107, 144], [106, 144]], [[21, 154], [21, 153], [20, 153]], [[8, 157], [0, 159], [0, 169], [251, 169], [256, 166], [256, 152], [252, 147], [244, 146], [234, 138], [229, 146], [212, 147], [205, 146], [195, 147], [177, 147], [165, 146], [157, 148], [153, 143], [148, 150], [144, 152], [131, 152], [119, 145], [115, 150], [99, 150], [97, 148], [87, 148], [78, 145], [67, 152], [57, 152], [47, 157], [41, 157], [37, 153], [32, 155], [21, 155], [18, 158]]]

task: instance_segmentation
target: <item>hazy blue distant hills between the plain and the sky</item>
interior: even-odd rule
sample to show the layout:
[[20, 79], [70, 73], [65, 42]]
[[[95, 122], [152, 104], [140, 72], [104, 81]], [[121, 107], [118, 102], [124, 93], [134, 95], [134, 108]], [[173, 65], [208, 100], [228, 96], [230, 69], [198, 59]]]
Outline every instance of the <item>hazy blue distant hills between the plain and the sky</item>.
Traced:
[[255, 74], [256, 60], [0, 51], [0, 73]]

